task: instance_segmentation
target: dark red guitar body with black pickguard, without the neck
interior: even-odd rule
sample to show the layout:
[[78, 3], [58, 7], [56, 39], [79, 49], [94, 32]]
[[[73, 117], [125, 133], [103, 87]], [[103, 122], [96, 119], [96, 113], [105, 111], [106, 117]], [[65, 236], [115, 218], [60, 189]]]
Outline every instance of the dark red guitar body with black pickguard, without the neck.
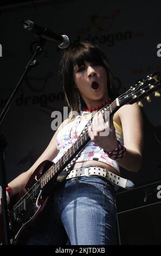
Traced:
[[[8, 205], [9, 239], [11, 244], [16, 244], [21, 239], [21, 236], [23, 236], [24, 232], [22, 231], [27, 231], [27, 228], [36, 221], [46, 205], [49, 195], [53, 192], [56, 177], [55, 182], [52, 179], [43, 190], [37, 182], [52, 165], [53, 162], [50, 161], [42, 162], [31, 175], [25, 190], [11, 198]], [[3, 244], [2, 215], [0, 216], [0, 244]]]

